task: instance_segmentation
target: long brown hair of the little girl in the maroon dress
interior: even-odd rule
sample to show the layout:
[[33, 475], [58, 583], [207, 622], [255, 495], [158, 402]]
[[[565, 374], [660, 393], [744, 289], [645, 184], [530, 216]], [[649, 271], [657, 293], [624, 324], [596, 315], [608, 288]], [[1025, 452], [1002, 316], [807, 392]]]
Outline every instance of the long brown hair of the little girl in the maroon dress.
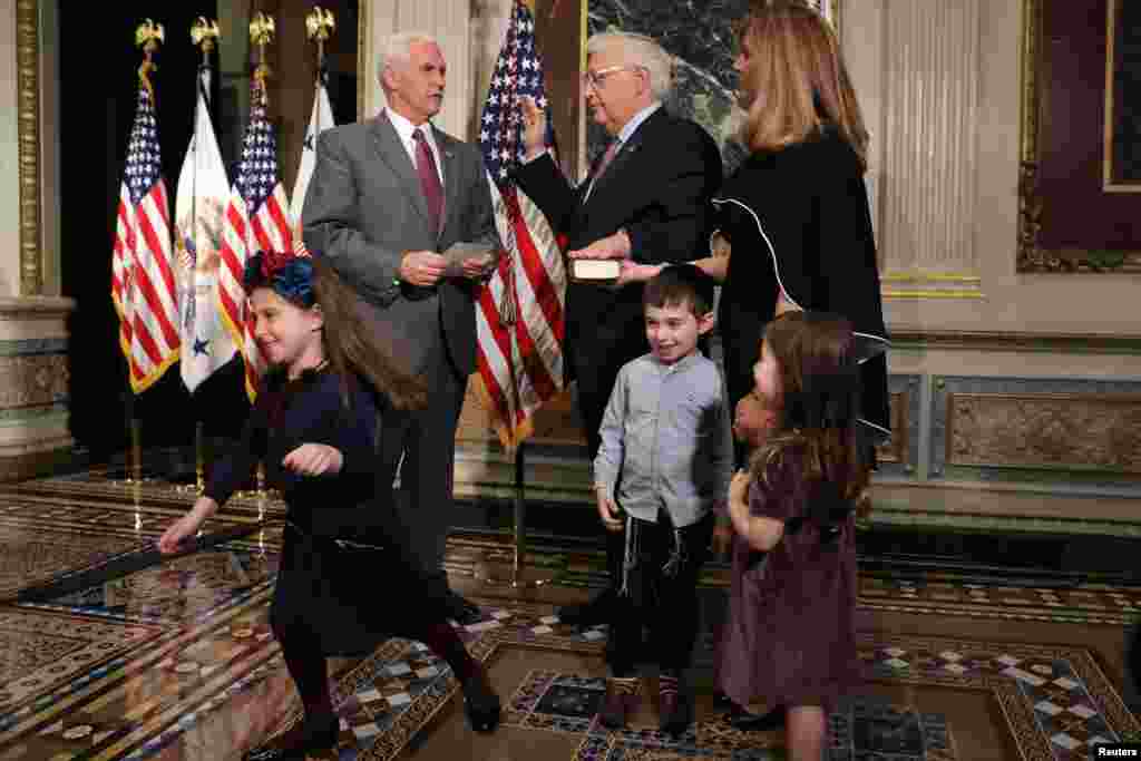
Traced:
[[[788, 311], [768, 324], [763, 343], [778, 367], [780, 398], [775, 402], [780, 413], [777, 430], [750, 463], [753, 480], [768, 483], [772, 467], [796, 454], [802, 481], [831, 481], [845, 499], [859, 497], [867, 486], [869, 463], [856, 436], [856, 405], [847, 403], [855, 396], [850, 382], [858, 374], [851, 324], [836, 315]], [[833, 402], [840, 403], [830, 403], [823, 422], [823, 407], [818, 407], [810, 415], [816, 420], [806, 426], [804, 415], [792, 410], [791, 400], [815, 396], [814, 403], [823, 404], [825, 390], [839, 394], [842, 398]]]

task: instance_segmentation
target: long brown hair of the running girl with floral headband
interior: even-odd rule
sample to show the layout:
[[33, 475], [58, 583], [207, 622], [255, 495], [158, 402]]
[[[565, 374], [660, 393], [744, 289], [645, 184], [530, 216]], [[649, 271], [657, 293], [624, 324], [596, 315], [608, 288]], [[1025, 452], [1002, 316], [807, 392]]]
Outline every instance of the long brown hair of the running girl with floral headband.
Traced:
[[424, 383], [374, 340], [356, 311], [361, 297], [322, 257], [313, 257], [313, 290], [325, 319], [325, 358], [332, 370], [346, 379], [359, 373], [398, 410], [424, 406]]

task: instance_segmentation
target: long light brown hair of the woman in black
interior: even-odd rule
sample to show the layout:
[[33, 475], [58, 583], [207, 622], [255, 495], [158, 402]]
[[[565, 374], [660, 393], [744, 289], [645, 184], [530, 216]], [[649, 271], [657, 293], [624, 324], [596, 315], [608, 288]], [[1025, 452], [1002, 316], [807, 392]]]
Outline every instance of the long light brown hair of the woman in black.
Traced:
[[832, 25], [803, 0], [752, 0], [737, 26], [747, 50], [742, 90], [751, 100], [742, 140], [753, 151], [778, 151], [839, 130], [867, 165], [867, 130]]

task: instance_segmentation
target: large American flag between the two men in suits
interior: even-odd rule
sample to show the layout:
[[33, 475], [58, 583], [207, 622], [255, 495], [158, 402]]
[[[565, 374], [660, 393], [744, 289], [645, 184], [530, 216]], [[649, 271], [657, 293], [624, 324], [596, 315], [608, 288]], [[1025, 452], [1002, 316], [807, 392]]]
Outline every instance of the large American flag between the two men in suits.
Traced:
[[531, 435], [532, 416], [564, 384], [563, 252], [542, 212], [510, 178], [524, 154], [520, 99], [526, 96], [548, 107], [535, 19], [524, 0], [516, 0], [479, 132], [507, 256], [480, 291], [476, 309], [482, 396], [508, 448]]

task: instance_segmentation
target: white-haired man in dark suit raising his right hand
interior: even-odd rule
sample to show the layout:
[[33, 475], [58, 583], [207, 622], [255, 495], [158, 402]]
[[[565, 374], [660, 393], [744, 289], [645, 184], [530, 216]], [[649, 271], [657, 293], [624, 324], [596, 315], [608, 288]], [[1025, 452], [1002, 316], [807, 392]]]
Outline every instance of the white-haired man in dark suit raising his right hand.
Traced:
[[[567, 289], [567, 355], [593, 461], [618, 370], [648, 350], [637, 281], [654, 265], [707, 254], [710, 197], [721, 184], [721, 156], [705, 130], [662, 108], [672, 62], [656, 42], [597, 34], [586, 56], [583, 88], [593, 120], [613, 138], [606, 153], [585, 181], [570, 187], [543, 149], [543, 113], [527, 103], [527, 161], [515, 177], [552, 227], [567, 235], [572, 259], [621, 260], [616, 284], [572, 282]], [[608, 621], [621, 562], [622, 534], [607, 533], [610, 586], [585, 606], [564, 607], [560, 618]]]

